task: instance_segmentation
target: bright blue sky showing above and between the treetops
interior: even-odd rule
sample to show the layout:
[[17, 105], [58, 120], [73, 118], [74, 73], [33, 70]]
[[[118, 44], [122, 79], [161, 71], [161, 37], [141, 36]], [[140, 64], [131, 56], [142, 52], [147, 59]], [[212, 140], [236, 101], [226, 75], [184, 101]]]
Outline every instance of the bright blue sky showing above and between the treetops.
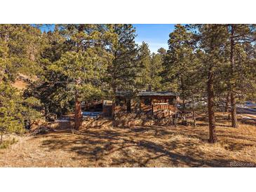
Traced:
[[[168, 39], [170, 32], [173, 32], [174, 24], [134, 24], [136, 28], [136, 38], [137, 44], [141, 44], [142, 41], [149, 44], [149, 49], [151, 52], [155, 52], [163, 47], [168, 49]], [[48, 31], [48, 27], [42, 27], [42, 31]]]

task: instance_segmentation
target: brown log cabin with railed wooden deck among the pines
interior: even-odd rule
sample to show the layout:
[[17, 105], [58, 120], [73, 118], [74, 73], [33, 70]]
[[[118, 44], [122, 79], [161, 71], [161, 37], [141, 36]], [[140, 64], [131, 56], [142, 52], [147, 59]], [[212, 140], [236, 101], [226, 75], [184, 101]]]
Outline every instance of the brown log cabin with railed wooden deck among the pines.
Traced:
[[[103, 114], [109, 116], [110, 104], [103, 103]], [[116, 92], [115, 114], [123, 113], [144, 113], [154, 118], [171, 117], [177, 111], [177, 94], [173, 92], [138, 92], [133, 95], [131, 92]]]

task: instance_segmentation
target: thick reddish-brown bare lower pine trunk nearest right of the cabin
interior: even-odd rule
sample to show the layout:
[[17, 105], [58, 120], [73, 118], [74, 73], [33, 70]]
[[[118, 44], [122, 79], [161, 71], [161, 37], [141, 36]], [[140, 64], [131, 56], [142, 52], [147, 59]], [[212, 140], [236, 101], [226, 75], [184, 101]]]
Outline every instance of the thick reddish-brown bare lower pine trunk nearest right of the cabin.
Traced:
[[209, 143], [217, 142], [217, 136], [215, 132], [215, 113], [214, 113], [214, 92], [213, 92], [213, 72], [210, 68], [208, 72], [208, 121], [209, 121]]

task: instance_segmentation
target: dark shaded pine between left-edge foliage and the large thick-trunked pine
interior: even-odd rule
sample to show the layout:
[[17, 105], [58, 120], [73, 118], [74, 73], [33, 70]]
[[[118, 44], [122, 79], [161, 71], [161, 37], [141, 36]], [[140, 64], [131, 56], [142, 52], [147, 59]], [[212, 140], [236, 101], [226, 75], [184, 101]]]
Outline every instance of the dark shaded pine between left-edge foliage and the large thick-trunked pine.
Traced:
[[72, 111], [74, 97], [69, 93], [67, 76], [51, 70], [49, 66], [60, 60], [62, 54], [67, 52], [67, 43], [58, 28], [54, 32], [44, 33], [42, 39], [39, 57], [41, 71], [36, 75], [37, 81], [29, 85], [26, 94], [41, 101], [46, 117], [50, 113], [61, 116]]

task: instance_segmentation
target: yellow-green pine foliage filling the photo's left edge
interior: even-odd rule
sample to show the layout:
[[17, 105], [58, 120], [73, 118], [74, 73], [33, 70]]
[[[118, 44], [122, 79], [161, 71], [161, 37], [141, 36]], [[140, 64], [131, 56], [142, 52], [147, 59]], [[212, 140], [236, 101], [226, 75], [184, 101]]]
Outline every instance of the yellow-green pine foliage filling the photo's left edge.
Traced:
[[[0, 25], [0, 130], [20, 132], [25, 121], [34, 121], [37, 111], [29, 106], [29, 98], [12, 87], [19, 74], [34, 76], [39, 69], [40, 32], [30, 25]], [[31, 100], [30, 100], [31, 101]], [[26, 105], [27, 104], [27, 105]]]

